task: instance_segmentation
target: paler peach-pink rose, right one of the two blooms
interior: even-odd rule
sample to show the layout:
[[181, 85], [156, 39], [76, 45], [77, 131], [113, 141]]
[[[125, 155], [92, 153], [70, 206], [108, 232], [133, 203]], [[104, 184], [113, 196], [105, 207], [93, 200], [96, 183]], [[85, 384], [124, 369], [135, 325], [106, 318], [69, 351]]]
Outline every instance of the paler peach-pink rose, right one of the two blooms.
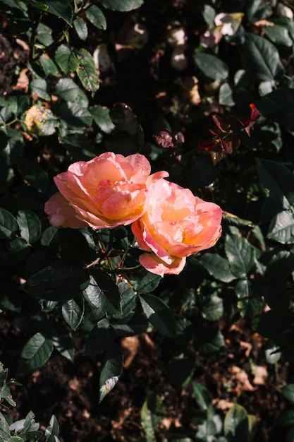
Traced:
[[187, 256], [209, 249], [221, 236], [221, 208], [166, 179], [151, 187], [147, 211], [132, 225], [140, 248], [151, 252], [140, 263], [157, 275], [178, 275]]

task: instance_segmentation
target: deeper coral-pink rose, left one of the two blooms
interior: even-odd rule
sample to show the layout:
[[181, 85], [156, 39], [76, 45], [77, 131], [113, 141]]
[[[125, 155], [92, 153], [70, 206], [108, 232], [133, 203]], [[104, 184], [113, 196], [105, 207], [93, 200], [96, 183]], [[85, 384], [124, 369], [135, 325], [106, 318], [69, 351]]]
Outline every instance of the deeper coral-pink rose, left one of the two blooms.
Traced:
[[124, 157], [107, 152], [75, 162], [54, 178], [59, 193], [51, 196], [44, 210], [54, 227], [128, 225], [147, 209], [149, 186], [169, 176], [168, 172], [150, 172], [149, 161], [140, 154]]

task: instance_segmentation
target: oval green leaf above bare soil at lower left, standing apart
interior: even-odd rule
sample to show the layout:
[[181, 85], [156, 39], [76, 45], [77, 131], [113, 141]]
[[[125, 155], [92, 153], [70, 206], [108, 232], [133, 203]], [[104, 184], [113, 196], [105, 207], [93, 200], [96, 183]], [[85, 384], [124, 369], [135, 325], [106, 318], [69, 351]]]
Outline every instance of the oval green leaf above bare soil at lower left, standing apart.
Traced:
[[27, 341], [20, 354], [18, 376], [25, 376], [42, 367], [53, 351], [53, 340], [36, 333]]

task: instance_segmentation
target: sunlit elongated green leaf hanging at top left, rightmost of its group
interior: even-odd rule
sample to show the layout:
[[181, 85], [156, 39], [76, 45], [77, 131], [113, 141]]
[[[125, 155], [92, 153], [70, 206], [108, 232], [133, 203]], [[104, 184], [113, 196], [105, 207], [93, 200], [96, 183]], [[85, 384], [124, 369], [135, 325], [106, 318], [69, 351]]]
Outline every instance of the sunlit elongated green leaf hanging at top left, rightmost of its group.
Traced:
[[99, 78], [93, 56], [86, 49], [79, 49], [77, 54], [80, 61], [76, 70], [78, 78], [84, 88], [88, 92], [92, 92], [92, 97], [94, 97], [95, 92], [99, 89]]

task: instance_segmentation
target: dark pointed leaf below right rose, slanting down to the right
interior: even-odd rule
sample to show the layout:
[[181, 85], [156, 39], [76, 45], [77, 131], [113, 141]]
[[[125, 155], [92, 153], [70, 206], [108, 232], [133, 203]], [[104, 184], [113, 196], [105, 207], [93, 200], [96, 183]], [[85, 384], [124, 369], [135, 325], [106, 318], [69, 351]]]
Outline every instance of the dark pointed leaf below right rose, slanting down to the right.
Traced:
[[140, 294], [142, 309], [150, 323], [168, 338], [176, 334], [176, 320], [169, 307], [153, 294]]

